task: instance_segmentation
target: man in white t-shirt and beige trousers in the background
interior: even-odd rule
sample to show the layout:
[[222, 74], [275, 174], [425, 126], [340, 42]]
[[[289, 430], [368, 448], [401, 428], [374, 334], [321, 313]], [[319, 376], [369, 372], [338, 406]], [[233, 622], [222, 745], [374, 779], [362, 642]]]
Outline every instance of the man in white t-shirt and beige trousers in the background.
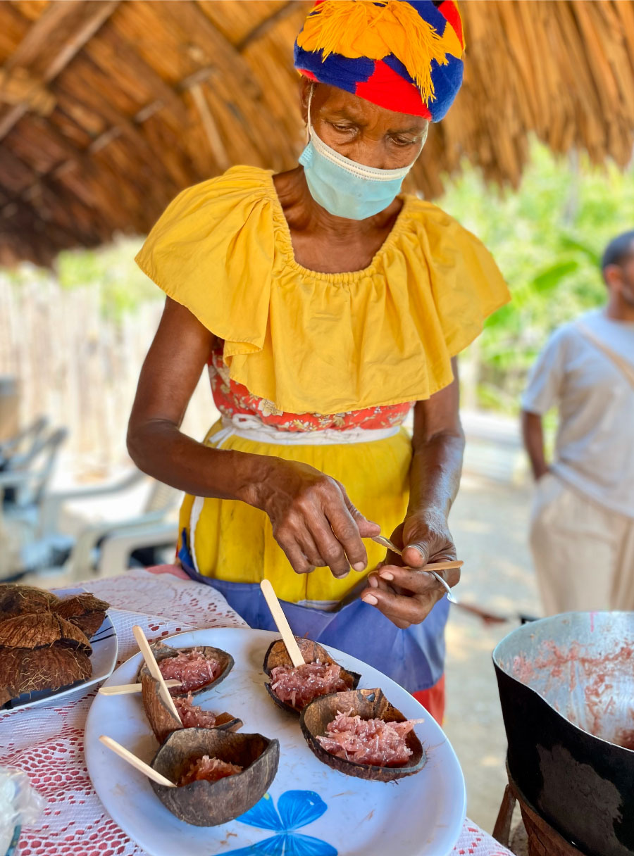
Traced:
[[[602, 259], [607, 304], [555, 330], [522, 398], [530, 547], [547, 615], [634, 609], [634, 231]], [[553, 463], [541, 419], [559, 408]]]

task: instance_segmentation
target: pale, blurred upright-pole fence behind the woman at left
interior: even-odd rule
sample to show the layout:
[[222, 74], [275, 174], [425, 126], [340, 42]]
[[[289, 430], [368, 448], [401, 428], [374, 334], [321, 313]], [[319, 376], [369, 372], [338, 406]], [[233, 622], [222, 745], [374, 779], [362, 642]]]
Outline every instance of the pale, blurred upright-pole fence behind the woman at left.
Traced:
[[[0, 375], [19, 384], [19, 423], [44, 414], [69, 428], [65, 459], [79, 476], [129, 463], [125, 435], [141, 364], [162, 311], [141, 304], [121, 322], [103, 318], [99, 288], [19, 286], [0, 275]], [[202, 439], [217, 418], [206, 372], [183, 430]]]

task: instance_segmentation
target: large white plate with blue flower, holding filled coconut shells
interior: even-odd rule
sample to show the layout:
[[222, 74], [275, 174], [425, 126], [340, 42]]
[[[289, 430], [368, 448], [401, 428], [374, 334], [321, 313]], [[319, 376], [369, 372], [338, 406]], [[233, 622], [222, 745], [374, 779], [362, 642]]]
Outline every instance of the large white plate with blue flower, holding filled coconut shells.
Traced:
[[[360, 687], [381, 687], [405, 716], [425, 716], [416, 734], [428, 764], [398, 782], [366, 782], [322, 764], [308, 748], [299, 719], [273, 704], [263, 686], [262, 663], [277, 633], [218, 628], [172, 637], [177, 647], [215, 645], [236, 660], [217, 688], [197, 697], [208, 710], [239, 716], [242, 731], [277, 737], [278, 774], [269, 793], [241, 820], [224, 826], [183, 823], [159, 802], [146, 776], [99, 743], [109, 734], [150, 762], [158, 748], [141, 696], [98, 695], [88, 714], [85, 752], [93, 785], [111, 817], [151, 856], [447, 856], [458, 841], [465, 812], [464, 778], [439, 725], [402, 687], [355, 657], [329, 648], [346, 669], [362, 675]], [[106, 681], [135, 681], [141, 654]]]

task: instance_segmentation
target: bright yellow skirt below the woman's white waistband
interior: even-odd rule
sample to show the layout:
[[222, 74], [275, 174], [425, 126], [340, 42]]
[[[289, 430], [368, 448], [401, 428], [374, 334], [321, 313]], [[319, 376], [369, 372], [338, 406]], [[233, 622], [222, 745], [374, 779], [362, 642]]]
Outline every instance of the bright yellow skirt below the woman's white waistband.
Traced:
[[[221, 428], [218, 420], [206, 437], [207, 446], [215, 445], [213, 438]], [[388, 537], [404, 520], [412, 454], [404, 428], [383, 440], [337, 445], [284, 446], [233, 435], [222, 448], [298, 461], [332, 476], [344, 484], [356, 508]], [[205, 499], [200, 514], [195, 508], [193, 515], [193, 506], [194, 496], [185, 496], [179, 532], [185, 532], [200, 574], [240, 583], [271, 580], [278, 597], [290, 603], [340, 601], [386, 554], [385, 547], [367, 540], [366, 571], [350, 571], [344, 580], [336, 580], [329, 568], [296, 574], [273, 538], [271, 521], [259, 508], [236, 500]]]

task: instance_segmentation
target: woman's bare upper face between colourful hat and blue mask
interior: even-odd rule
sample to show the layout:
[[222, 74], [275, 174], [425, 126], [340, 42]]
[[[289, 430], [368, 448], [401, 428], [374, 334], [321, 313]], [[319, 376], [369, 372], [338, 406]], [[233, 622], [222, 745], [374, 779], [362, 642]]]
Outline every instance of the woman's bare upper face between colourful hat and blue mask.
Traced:
[[310, 120], [314, 132], [345, 158], [375, 169], [409, 166], [421, 152], [429, 122], [395, 113], [350, 92], [302, 78], [302, 115], [308, 119], [308, 94], [314, 86]]

